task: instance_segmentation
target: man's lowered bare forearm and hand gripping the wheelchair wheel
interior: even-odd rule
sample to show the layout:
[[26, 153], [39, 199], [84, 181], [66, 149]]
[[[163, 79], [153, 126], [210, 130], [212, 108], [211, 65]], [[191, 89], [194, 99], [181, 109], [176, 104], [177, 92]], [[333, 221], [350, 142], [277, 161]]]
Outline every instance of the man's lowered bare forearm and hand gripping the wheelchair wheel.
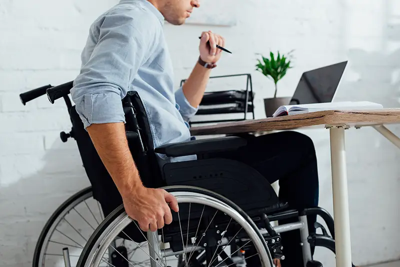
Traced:
[[91, 124], [87, 131], [122, 196], [126, 213], [143, 231], [171, 223], [170, 208], [177, 212], [177, 201], [163, 189], [144, 187], [128, 147], [124, 123]]

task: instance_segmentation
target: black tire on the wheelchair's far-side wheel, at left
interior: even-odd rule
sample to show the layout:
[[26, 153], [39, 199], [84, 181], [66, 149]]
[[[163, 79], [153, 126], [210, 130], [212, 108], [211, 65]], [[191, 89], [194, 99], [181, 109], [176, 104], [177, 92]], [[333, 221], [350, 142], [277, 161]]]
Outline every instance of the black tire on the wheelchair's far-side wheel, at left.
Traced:
[[40, 232], [39, 238], [37, 239], [36, 242], [36, 247], [33, 252], [33, 261], [32, 261], [32, 267], [42, 267], [39, 266], [39, 259], [40, 259], [40, 252], [44, 243], [44, 238], [47, 235], [47, 232], [50, 230], [51, 225], [54, 223], [56, 218], [62, 213], [62, 211], [67, 208], [73, 201], [76, 199], [84, 196], [85, 194], [92, 193], [91, 186], [88, 186], [71, 197], [69, 197], [65, 202], [63, 202], [50, 216], [50, 218], [47, 220], [46, 224], [44, 225], [43, 229]]

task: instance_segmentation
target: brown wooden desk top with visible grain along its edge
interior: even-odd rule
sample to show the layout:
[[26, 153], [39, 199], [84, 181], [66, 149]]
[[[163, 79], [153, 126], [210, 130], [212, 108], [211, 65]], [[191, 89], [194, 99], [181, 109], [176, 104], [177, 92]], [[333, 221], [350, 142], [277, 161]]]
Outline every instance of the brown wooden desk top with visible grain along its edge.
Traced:
[[269, 130], [288, 130], [329, 125], [371, 126], [400, 123], [400, 108], [374, 110], [326, 110], [297, 115], [223, 122], [207, 126], [193, 126], [192, 135], [229, 134]]

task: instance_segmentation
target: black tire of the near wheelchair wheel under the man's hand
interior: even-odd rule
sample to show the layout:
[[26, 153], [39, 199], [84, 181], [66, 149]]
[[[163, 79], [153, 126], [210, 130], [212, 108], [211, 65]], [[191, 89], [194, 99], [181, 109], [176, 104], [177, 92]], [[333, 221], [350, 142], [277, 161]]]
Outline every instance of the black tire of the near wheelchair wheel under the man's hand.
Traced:
[[[230, 201], [229, 199], [225, 198], [224, 196], [219, 195], [217, 193], [214, 193], [212, 191], [203, 189], [203, 188], [192, 187], [192, 186], [166, 186], [166, 187], [162, 187], [162, 188], [165, 189], [167, 192], [170, 192], [170, 193], [172, 193], [172, 192], [181, 192], [181, 191], [193, 192], [193, 193], [201, 193], [201, 194], [204, 194], [204, 195], [212, 196], [212, 197], [224, 202], [225, 204], [227, 204], [231, 208], [233, 208], [236, 212], [238, 212], [248, 222], [248, 224], [251, 225], [251, 227], [257, 233], [258, 237], [261, 240], [264, 240], [264, 237], [259, 232], [258, 227], [254, 224], [254, 222], [251, 220], [251, 218], [240, 207], [238, 207], [236, 204], [234, 204], [232, 201]], [[113, 222], [114, 219], [117, 218], [119, 215], [121, 215], [123, 212], [125, 212], [125, 209], [124, 209], [123, 204], [122, 204], [119, 207], [117, 207], [116, 209], [114, 209], [110, 214], [108, 214], [107, 217], [105, 217], [105, 219], [100, 223], [100, 225], [96, 228], [96, 230], [93, 232], [93, 234], [88, 239], [86, 245], [84, 246], [84, 248], [82, 250], [82, 253], [79, 256], [79, 259], [77, 261], [76, 267], [84, 267], [84, 264], [87, 261], [89, 253], [92, 250], [96, 240], [101, 236], [103, 231], [110, 225], [110, 223]], [[266, 243], [264, 241], [262, 242], [262, 244], [264, 246], [265, 251], [267, 251], [267, 253], [269, 255], [269, 261], [270, 261], [269, 264], [271, 266], [273, 266], [273, 262], [271, 261], [268, 247], [267, 247], [267, 245], [266, 245]]]

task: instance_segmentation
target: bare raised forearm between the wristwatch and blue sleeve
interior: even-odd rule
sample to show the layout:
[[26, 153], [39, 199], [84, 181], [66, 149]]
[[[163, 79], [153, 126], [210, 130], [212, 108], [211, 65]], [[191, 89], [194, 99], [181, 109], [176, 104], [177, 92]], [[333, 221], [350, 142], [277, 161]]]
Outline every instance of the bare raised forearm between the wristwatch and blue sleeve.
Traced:
[[210, 72], [211, 69], [197, 62], [182, 86], [184, 96], [193, 107], [197, 107], [201, 102]]

